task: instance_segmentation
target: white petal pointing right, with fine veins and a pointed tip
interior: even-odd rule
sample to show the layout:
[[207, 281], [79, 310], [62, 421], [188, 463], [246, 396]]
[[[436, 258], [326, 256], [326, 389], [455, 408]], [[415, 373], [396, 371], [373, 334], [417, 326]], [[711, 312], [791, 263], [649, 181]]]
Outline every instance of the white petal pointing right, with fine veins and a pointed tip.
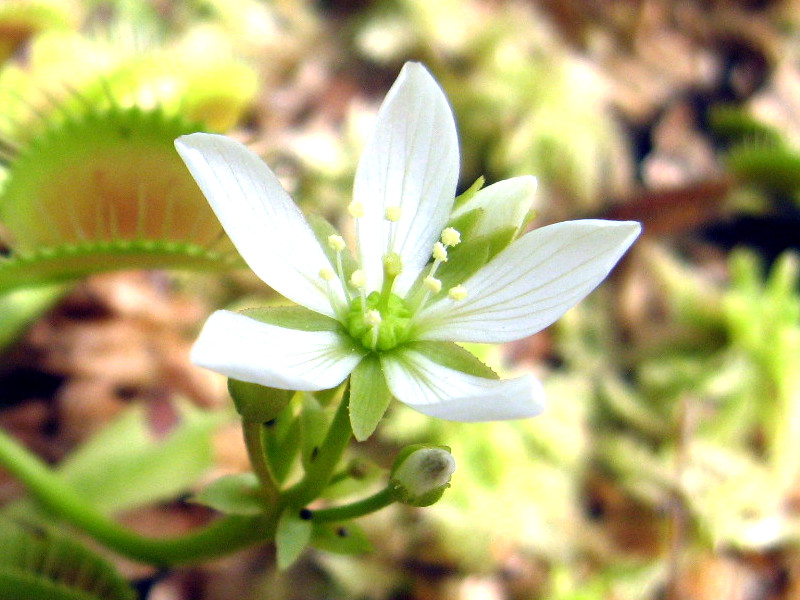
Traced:
[[414, 336], [498, 343], [536, 333], [597, 287], [640, 231], [633, 221], [593, 219], [531, 231], [464, 282], [464, 300], [425, 308]]

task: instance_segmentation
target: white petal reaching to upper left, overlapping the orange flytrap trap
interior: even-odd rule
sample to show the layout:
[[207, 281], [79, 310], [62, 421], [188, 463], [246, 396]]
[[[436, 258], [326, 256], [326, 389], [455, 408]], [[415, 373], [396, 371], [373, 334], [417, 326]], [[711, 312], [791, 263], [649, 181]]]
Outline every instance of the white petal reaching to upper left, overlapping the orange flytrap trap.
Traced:
[[331, 264], [269, 167], [221, 135], [185, 135], [175, 147], [255, 274], [297, 304], [334, 316], [330, 297], [344, 305], [341, 285], [320, 277]]

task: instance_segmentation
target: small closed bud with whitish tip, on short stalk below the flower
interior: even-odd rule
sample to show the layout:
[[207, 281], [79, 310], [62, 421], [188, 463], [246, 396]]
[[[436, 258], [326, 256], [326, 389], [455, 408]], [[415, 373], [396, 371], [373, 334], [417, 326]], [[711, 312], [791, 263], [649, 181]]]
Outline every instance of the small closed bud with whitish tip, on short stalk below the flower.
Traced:
[[450, 487], [455, 470], [456, 461], [447, 446], [407, 446], [394, 461], [392, 491], [403, 504], [430, 506]]

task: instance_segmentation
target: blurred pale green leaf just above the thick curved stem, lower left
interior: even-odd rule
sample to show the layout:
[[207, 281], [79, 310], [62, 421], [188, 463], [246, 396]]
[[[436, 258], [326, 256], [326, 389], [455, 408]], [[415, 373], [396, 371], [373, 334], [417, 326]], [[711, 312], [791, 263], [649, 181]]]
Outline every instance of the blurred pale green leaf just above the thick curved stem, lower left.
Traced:
[[59, 477], [104, 512], [185, 492], [211, 468], [212, 437], [228, 417], [189, 405], [180, 409], [181, 423], [158, 439], [143, 408], [132, 407], [71, 454]]

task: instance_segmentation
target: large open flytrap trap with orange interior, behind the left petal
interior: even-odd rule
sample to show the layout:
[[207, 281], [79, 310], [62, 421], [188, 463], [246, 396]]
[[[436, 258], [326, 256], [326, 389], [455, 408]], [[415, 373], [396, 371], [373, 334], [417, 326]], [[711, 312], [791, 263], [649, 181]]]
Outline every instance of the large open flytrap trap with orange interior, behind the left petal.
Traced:
[[135, 268], [240, 261], [173, 147], [197, 127], [159, 110], [90, 110], [50, 124], [11, 162], [0, 291]]

